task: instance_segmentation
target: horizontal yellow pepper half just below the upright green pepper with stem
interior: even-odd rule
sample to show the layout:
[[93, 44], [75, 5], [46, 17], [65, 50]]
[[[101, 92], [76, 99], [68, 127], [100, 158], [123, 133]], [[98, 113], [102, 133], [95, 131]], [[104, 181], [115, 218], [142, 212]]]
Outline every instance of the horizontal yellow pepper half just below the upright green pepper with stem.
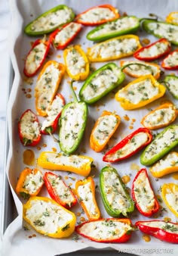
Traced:
[[93, 158], [85, 155], [63, 155], [51, 151], [43, 151], [38, 157], [38, 165], [48, 170], [66, 170], [82, 176], [91, 173]]

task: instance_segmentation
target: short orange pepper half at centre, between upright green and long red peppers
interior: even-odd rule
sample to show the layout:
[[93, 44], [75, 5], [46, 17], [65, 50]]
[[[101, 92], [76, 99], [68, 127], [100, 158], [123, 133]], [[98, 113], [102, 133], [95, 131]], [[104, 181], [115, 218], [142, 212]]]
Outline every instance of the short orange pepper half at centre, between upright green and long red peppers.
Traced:
[[103, 111], [91, 132], [91, 148], [96, 152], [102, 151], [117, 130], [119, 123], [121, 123], [121, 117], [118, 114]]

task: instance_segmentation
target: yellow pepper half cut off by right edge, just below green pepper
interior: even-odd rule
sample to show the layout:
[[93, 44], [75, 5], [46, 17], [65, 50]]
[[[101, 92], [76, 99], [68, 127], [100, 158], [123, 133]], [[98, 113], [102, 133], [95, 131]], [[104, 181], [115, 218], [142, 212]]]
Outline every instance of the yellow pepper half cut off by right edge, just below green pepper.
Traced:
[[164, 158], [159, 160], [156, 164], [149, 169], [152, 176], [160, 178], [169, 173], [178, 171], [178, 153], [175, 151], [170, 152]]

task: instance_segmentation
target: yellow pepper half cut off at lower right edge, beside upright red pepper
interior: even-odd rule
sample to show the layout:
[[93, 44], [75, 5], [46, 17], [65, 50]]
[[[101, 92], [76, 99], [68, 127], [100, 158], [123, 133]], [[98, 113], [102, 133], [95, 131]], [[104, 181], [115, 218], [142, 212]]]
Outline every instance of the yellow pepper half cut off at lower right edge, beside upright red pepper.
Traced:
[[164, 203], [178, 217], [178, 185], [175, 183], [167, 183], [161, 186], [161, 195]]

